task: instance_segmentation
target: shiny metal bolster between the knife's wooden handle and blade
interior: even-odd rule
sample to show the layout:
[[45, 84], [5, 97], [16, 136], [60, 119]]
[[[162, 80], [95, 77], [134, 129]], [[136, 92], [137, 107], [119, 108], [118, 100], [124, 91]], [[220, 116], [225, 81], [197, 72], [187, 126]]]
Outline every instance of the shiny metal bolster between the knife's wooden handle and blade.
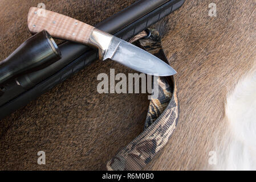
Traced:
[[92, 34], [88, 40], [88, 44], [99, 49], [99, 59], [104, 60], [104, 56], [111, 44], [113, 36], [97, 30], [96, 28], [92, 31]]

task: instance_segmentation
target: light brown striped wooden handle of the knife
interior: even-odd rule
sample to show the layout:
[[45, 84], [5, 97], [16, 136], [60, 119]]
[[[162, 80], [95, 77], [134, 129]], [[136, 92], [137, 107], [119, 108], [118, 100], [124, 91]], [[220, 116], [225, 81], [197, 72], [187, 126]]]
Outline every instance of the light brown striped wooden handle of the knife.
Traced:
[[27, 24], [32, 33], [46, 30], [51, 36], [87, 44], [95, 27], [52, 11], [31, 7]]

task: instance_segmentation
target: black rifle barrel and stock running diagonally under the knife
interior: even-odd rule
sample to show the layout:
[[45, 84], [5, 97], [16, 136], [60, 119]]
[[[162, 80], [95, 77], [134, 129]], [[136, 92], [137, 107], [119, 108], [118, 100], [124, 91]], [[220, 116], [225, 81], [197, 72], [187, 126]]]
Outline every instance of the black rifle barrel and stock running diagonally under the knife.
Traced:
[[[147, 29], [183, 5], [185, 0], [141, 0], [95, 25], [123, 40]], [[0, 88], [0, 119], [35, 100], [97, 60], [97, 51], [74, 42], [58, 45], [62, 59], [44, 69], [18, 77]]]

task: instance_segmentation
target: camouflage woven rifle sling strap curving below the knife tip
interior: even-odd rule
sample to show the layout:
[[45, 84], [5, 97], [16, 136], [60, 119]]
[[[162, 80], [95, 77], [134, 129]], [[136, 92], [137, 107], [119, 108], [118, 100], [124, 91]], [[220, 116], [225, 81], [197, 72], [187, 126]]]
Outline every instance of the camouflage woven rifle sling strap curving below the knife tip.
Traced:
[[[161, 47], [159, 32], [137, 40], [137, 46], [168, 63]], [[144, 32], [142, 33], [144, 34]], [[144, 131], [107, 162], [108, 170], [142, 170], [168, 142], [178, 121], [178, 98], [173, 76], [153, 77], [159, 85], [159, 96], [149, 104]]]

